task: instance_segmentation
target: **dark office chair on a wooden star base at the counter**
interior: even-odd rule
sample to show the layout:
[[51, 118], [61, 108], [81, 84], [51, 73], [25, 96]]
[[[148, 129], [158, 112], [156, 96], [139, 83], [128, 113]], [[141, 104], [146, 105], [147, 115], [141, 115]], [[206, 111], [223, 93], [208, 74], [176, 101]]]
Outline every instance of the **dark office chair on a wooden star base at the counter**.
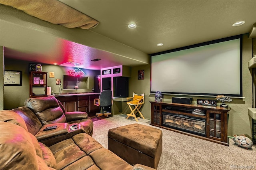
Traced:
[[101, 116], [111, 115], [112, 107], [112, 91], [111, 90], [102, 90], [100, 93], [99, 99], [94, 99], [94, 105], [100, 107], [100, 113], [96, 113], [97, 118]]

